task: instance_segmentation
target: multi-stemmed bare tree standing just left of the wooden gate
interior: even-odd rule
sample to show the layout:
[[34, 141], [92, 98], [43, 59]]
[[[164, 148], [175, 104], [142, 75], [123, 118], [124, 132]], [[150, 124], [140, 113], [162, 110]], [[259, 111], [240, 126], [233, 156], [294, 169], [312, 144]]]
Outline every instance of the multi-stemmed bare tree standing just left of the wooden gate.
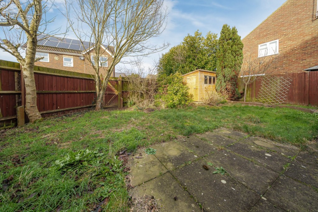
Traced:
[[[106, 44], [112, 54], [104, 75], [100, 73], [98, 63], [94, 62], [100, 61], [102, 52], [95, 52], [94, 61], [88, 57], [95, 70], [95, 110], [100, 110], [115, 65], [131, 63], [122, 60], [125, 57], [148, 56], [168, 46], [149, 44], [149, 38], [159, 36], [164, 30], [167, 9], [163, 0], [74, 0], [65, 3], [68, 8], [66, 17], [77, 38], [82, 43], [85, 39], [91, 41], [97, 51]], [[76, 22], [78, 24], [74, 24]]]

